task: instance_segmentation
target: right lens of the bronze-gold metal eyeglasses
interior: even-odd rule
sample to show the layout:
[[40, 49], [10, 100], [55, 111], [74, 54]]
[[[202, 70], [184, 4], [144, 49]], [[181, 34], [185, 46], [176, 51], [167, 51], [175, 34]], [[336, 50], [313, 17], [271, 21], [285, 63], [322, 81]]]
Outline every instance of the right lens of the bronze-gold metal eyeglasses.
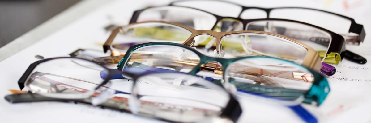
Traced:
[[224, 58], [264, 55], [295, 61], [298, 64], [303, 62], [308, 52], [301, 45], [285, 38], [257, 33], [227, 35], [221, 39], [221, 45], [225, 52]]

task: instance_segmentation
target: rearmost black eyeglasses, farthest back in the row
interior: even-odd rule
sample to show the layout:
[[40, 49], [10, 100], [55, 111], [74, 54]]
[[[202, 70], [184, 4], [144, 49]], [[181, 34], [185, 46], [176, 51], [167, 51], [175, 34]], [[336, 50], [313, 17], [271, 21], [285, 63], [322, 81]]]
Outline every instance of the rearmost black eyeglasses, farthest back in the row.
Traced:
[[[213, 6], [210, 6], [213, 5]], [[283, 18], [318, 25], [346, 37], [347, 43], [359, 45], [365, 38], [363, 25], [355, 23], [353, 18], [329, 11], [304, 7], [247, 7], [223, 0], [179, 0], [170, 6], [185, 6], [197, 8], [221, 16], [252, 18]], [[220, 8], [228, 8], [220, 9]], [[336, 22], [336, 23], [333, 23]]]

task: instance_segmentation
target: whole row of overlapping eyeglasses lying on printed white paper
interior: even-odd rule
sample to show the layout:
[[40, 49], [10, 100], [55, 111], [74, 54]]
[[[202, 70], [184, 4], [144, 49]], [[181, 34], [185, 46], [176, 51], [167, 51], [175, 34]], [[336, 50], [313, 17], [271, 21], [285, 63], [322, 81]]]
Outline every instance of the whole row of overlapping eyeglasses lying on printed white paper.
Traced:
[[23, 91], [5, 98], [87, 103], [188, 123], [237, 122], [239, 99], [258, 96], [313, 123], [301, 104], [326, 100], [324, 76], [336, 73], [330, 64], [367, 62], [345, 47], [364, 37], [354, 19], [313, 8], [175, 1], [134, 11], [103, 45], [111, 56], [36, 61], [18, 81]]

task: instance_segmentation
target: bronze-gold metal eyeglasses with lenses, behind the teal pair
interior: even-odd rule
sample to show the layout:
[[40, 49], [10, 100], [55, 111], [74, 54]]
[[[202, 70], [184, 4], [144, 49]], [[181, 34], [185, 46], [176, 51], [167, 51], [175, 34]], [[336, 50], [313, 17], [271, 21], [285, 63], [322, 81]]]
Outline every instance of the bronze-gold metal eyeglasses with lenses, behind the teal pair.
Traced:
[[[205, 36], [206, 35], [206, 36]], [[193, 47], [195, 39], [213, 40], [216, 47], [203, 49], [203, 53], [214, 57], [235, 58], [247, 55], [265, 55], [288, 59], [319, 71], [321, 62], [318, 53], [311, 47], [291, 38], [263, 31], [216, 32], [193, 28], [165, 21], [147, 21], [116, 28], [104, 44], [104, 51], [112, 55], [123, 55], [128, 42], [165, 41], [183, 43]], [[224, 43], [235, 47], [224, 48]], [[122, 45], [124, 44], [124, 45]], [[222, 48], [223, 46], [223, 48]], [[290, 50], [282, 50], [290, 49]], [[138, 57], [143, 57], [138, 55]]]

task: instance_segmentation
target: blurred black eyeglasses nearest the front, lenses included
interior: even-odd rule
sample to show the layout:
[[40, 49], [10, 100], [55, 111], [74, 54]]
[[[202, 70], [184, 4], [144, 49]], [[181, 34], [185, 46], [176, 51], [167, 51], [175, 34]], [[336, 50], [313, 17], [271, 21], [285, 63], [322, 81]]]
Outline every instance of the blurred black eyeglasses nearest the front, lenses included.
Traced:
[[[115, 74], [87, 59], [49, 58], [31, 64], [18, 84], [20, 89], [26, 87], [36, 94], [32, 95], [36, 101], [89, 103], [172, 122], [236, 122], [241, 114], [239, 103], [228, 91], [196, 76], [170, 73], [174, 78], [169, 78], [168, 73], [134, 76], [120, 72], [133, 80], [108, 81]], [[23, 96], [26, 99], [8, 99], [32, 101], [31, 95]]]

